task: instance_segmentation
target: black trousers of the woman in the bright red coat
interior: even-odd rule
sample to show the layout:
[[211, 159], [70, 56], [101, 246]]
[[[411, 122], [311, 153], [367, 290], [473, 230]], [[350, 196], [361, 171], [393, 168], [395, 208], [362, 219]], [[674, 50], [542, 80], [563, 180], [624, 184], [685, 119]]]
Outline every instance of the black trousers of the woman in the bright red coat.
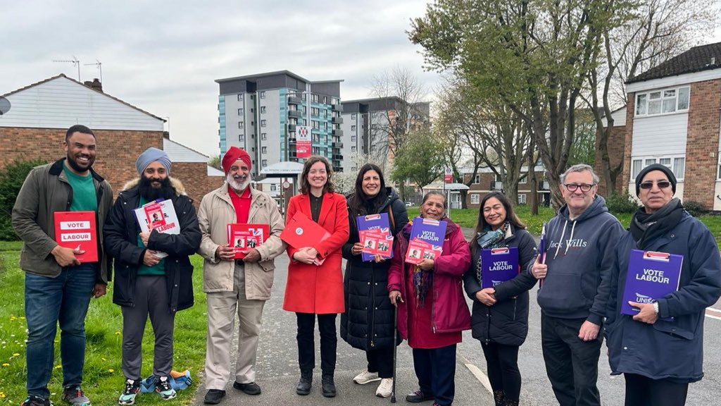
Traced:
[[315, 368], [315, 319], [318, 316], [320, 332], [320, 368], [324, 375], [335, 371], [338, 337], [335, 332], [337, 314], [296, 313], [298, 320], [298, 366], [301, 371], [313, 371]]

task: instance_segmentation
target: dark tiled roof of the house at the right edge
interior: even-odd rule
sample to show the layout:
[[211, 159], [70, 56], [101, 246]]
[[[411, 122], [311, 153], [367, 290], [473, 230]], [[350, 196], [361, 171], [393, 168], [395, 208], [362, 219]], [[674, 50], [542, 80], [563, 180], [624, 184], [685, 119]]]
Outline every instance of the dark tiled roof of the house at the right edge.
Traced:
[[632, 77], [627, 83], [645, 82], [709, 69], [721, 69], [721, 43], [694, 46], [689, 51]]

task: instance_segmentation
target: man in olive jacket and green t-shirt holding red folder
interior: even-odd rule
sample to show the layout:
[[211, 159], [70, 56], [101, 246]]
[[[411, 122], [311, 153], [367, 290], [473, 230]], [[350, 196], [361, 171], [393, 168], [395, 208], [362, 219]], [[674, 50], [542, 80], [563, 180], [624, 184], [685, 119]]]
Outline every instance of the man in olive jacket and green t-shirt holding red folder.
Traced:
[[[81, 389], [85, 359], [85, 315], [91, 296], [105, 295], [110, 258], [102, 246], [105, 216], [112, 206], [110, 183], [92, 170], [96, 140], [86, 126], [71, 126], [67, 157], [30, 171], [12, 208], [12, 226], [22, 239], [27, 318], [27, 399], [23, 406], [50, 405], [53, 340], [60, 323], [63, 363], [61, 398], [73, 406], [90, 401]], [[56, 212], [95, 212], [98, 262], [81, 263], [78, 249], [56, 243]]]

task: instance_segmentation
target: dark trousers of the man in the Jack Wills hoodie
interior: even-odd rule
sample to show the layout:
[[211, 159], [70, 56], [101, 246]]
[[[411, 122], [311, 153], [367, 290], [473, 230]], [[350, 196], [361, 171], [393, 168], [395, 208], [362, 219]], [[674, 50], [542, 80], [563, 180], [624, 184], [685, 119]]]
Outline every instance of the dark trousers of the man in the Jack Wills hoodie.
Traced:
[[559, 319], [541, 313], [541, 343], [546, 372], [560, 406], [600, 406], [598, 357], [603, 335], [578, 338], [585, 319]]

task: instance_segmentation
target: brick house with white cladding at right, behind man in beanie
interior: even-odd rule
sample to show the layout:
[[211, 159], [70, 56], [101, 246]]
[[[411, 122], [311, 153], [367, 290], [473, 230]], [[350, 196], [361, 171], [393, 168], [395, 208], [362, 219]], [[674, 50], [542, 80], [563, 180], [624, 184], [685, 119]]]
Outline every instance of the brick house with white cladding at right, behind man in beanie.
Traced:
[[[721, 210], [721, 43], [696, 46], [627, 82], [624, 189], [651, 163], [667, 165], [676, 196]], [[686, 179], [689, 180], [686, 183]]]

